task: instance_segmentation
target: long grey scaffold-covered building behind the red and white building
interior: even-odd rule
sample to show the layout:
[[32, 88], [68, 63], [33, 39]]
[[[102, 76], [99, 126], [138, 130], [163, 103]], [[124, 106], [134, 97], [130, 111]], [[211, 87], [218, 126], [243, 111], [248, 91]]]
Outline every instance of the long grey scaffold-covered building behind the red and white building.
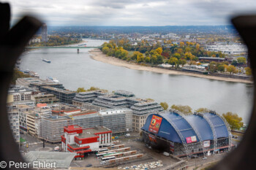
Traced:
[[69, 109], [69, 112], [61, 111], [61, 114], [53, 112], [53, 115], [41, 117], [39, 120], [38, 136], [48, 142], [61, 142], [61, 135], [64, 134], [63, 127], [67, 125], [80, 125], [83, 128], [103, 125], [110, 128], [115, 135], [126, 134], [132, 131], [132, 110], [123, 108], [96, 112], [73, 108]]

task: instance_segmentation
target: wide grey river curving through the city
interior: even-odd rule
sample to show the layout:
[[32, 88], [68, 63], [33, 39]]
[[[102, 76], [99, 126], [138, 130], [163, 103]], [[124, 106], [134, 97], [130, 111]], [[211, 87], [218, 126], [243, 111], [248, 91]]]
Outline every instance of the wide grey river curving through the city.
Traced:
[[[87, 46], [102, 45], [104, 40], [86, 39]], [[159, 74], [127, 69], [90, 58], [88, 48], [32, 50], [21, 58], [20, 69], [37, 72], [42, 79], [56, 77], [65, 88], [129, 90], [138, 98], [153, 98], [172, 104], [206, 107], [222, 114], [235, 112], [247, 123], [252, 109], [252, 85], [241, 82], [208, 80], [184, 75]], [[51, 63], [45, 63], [46, 58]]]

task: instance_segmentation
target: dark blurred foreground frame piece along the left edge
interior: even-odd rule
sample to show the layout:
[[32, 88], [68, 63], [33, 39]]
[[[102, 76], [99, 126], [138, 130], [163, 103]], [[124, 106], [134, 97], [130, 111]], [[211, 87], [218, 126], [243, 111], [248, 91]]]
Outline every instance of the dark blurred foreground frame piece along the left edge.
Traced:
[[18, 56], [41, 25], [35, 18], [24, 17], [10, 29], [10, 5], [0, 3], [0, 162], [7, 165], [23, 161], [7, 118], [7, 90]]

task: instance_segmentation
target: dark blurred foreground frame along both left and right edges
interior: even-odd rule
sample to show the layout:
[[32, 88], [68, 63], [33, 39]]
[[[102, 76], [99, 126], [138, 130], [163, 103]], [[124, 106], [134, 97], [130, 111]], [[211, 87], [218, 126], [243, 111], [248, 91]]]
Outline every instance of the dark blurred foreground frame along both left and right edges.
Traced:
[[[256, 15], [233, 18], [233, 25], [238, 30], [249, 50], [252, 74], [256, 75]], [[0, 162], [22, 162], [18, 145], [15, 144], [7, 118], [7, 91], [12, 79], [12, 72], [18, 56], [23, 52], [29, 39], [36, 33], [42, 23], [31, 17], [25, 17], [10, 30], [10, 6], [0, 3]], [[236, 92], [234, 92], [236, 93]], [[256, 89], [254, 88], [254, 96]], [[214, 170], [256, 169], [256, 107], [253, 102], [252, 117], [249, 128], [236, 150], [222, 159]], [[6, 169], [9, 169], [7, 166]]]

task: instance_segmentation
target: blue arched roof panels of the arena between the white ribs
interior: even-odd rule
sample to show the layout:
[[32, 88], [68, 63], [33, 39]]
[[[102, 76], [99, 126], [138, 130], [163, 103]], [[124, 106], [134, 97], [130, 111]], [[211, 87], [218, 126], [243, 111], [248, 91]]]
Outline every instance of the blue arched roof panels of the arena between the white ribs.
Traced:
[[[148, 131], [149, 125], [151, 124], [152, 115], [148, 115], [145, 125], [143, 126], [143, 130], [149, 133]], [[217, 139], [221, 137], [228, 137], [227, 127], [222, 120], [221, 117], [215, 115], [213, 113], [205, 113], [203, 117], [200, 115], [185, 115], [186, 119], [181, 115], [178, 115], [176, 112], [163, 112], [157, 115], [158, 117], [162, 117], [162, 123], [159, 127], [159, 131], [157, 136], [167, 139], [172, 142], [182, 143], [180, 136], [178, 135], [173, 125], [176, 126], [178, 131], [181, 134], [181, 137], [184, 138], [186, 142], [186, 138], [190, 136], [196, 136], [197, 142], [199, 142], [198, 136], [202, 138], [203, 141], [205, 140], [213, 140], [214, 134], [211, 130], [211, 126], [209, 125], [208, 121], [205, 116], [208, 117], [208, 120], [211, 121], [212, 125], [214, 125], [214, 131], [216, 131]], [[193, 128], [196, 128], [198, 136]]]

